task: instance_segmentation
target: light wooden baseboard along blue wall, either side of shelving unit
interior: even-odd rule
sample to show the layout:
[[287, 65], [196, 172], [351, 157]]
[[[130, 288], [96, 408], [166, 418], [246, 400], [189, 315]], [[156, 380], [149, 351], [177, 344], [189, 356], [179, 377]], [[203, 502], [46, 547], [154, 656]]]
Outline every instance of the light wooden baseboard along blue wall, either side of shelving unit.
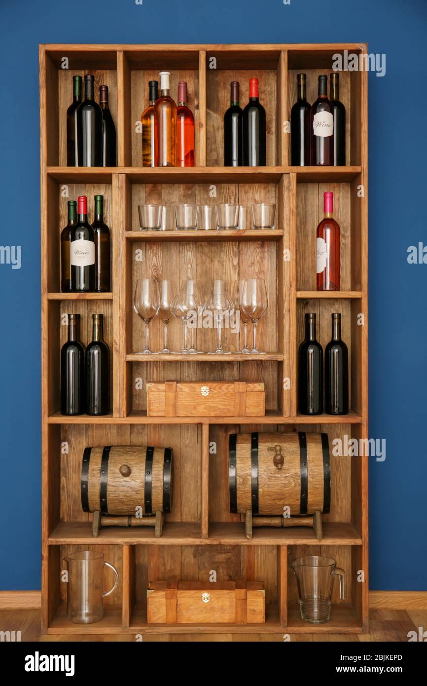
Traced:
[[[38, 610], [41, 591], [0, 591], [0, 610]], [[371, 610], [427, 610], [427, 591], [369, 591]]]

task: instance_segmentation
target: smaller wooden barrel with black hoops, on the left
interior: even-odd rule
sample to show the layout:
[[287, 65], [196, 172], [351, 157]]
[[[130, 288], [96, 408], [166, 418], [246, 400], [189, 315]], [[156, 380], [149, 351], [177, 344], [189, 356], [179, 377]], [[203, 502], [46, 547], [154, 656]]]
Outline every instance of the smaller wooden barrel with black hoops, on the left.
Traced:
[[81, 477], [84, 512], [171, 512], [172, 458], [171, 448], [129, 445], [85, 448]]

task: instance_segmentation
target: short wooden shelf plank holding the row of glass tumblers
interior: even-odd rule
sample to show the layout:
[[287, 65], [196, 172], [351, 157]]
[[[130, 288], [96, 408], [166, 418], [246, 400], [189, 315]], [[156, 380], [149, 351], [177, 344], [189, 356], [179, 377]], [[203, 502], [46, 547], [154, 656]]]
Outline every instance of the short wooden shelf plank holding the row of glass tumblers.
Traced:
[[249, 230], [188, 230], [188, 231], [126, 231], [130, 241], [278, 241], [282, 231], [273, 229]]

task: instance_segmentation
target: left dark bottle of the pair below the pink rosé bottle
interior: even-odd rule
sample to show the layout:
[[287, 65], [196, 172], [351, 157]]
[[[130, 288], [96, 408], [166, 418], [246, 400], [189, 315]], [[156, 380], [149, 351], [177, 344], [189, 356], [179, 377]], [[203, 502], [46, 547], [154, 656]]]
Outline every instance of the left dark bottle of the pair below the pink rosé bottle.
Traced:
[[306, 314], [306, 338], [298, 351], [298, 409], [300, 414], [324, 410], [324, 351], [316, 340], [316, 315]]

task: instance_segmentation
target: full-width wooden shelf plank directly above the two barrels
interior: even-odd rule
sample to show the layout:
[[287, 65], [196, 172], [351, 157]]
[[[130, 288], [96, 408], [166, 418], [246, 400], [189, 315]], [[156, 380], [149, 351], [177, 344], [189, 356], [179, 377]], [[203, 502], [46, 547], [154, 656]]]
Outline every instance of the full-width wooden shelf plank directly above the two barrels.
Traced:
[[66, 416], [60, 412], [49, 416], [49, 424], [361, 424], [362, 422], [361, 415], [352, 411], [338, 416], [298, 414], [289, 417], [284, 417], [278, 410], [267, 410], [265, 416], [260, 417], [147, 417], [147, 412], [144, 410], [134, 410], [126, 417], [113, 416], [111, 413], [103, 416], [89, 416], [88, 414]]

